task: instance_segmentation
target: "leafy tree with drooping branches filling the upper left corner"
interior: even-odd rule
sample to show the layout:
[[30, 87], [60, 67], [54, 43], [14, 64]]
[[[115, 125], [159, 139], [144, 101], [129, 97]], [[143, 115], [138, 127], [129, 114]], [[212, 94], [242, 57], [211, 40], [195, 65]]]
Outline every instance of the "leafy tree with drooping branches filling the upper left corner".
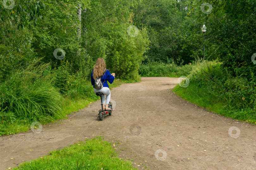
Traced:
[[44, 15], [47, 1], [11, 0], [0, 3], [0, 82], [16, 65], [25, 65], [33, 57], [29, 28]]

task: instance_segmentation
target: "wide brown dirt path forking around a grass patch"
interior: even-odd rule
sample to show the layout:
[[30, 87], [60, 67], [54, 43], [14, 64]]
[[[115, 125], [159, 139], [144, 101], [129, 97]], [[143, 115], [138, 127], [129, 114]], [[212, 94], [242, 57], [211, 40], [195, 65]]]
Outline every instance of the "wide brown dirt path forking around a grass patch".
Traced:
[[[68, 120], [46, 125], [40, 133], [2, 136], [0, 169], [95, 136], [119, 142], [118, 155], [133, 160], [139, 169], [255, 169], [255, 126], [181, 99], [170, 91], [175, 84], [177, 78], [144, 77], [111, 91], [116, 107], [103, 121], [97, 119], [100, 101], [96, 101]], [[233, 137], [232, 126], [238, 129], [230, 133]]]

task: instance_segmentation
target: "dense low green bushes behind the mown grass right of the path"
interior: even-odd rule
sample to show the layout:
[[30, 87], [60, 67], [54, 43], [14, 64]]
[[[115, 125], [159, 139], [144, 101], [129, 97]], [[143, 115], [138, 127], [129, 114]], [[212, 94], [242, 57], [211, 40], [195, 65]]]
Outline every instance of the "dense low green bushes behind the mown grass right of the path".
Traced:
[[[226, 69], [218, 65], [205, 65], [204, 68], [193, 72], [188, 77], [191, 83], [196, 83], [199, 88], [206, 88], [235, 109], [256, 107], [256, 78], [249, 70], [248, 78], [243, 76], [231, 76]], [[213, 79], [213, 80], [212, 80]]]

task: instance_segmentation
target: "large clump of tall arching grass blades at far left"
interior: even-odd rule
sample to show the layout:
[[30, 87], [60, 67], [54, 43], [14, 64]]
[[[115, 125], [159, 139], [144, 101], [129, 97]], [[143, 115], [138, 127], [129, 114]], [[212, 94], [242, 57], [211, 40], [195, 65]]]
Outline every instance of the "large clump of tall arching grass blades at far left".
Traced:
[[49, 70], [49, 64], [35, 60], [0, 83], [0, 135], [7, 133], [7, 126], [17, 122], [44, 122], [63, 117], [59, 112], [63, 97], [52, 86]]

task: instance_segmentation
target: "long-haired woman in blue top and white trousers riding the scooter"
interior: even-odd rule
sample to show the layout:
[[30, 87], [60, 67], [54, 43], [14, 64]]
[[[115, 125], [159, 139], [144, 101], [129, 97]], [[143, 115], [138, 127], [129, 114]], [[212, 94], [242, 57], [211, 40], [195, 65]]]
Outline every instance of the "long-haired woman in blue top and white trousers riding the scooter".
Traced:
[[[96, 94], [97, 92], [101, 92], [106, 95], [106, 108], [104, 106], [105, 104], [105, 95], [102, 96], [102, 103], [103, 103], [103, 109], [109, 110], [108, 104], [110, 101], [110, 90], [108, 88], [107, 81], [112, 84], [114, 79], [115, 79], [115, 73], [110, 74], [110, 72], [107, 70], [105, 73], [104, 71], [106, 69], [106, 63], [103, 58], [98, 58], [96, 61], [96, 64], [94, 65], [92, 75], [91, 75], [91, 83], [94, 88], [94, 83], [97, 77], [101, 77], [101, 82], [103, 83], [103, 88], [101, 89], [95, 89], [94, 88], [94, 93]], [[104, 73], [104, 74], [103, 74]]]

